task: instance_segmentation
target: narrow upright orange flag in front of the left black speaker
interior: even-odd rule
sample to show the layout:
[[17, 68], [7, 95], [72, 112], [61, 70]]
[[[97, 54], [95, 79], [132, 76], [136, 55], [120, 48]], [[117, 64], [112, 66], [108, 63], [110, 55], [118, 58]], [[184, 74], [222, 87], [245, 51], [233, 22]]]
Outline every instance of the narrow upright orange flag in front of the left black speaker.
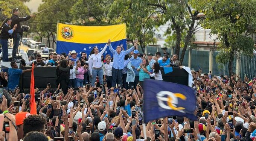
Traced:
[[31, 80], [30, 80], [30, 114], [37, 114], [37, 105], [35, 103], [35, 79], [34, 79], [34, 63], [32, 64]]

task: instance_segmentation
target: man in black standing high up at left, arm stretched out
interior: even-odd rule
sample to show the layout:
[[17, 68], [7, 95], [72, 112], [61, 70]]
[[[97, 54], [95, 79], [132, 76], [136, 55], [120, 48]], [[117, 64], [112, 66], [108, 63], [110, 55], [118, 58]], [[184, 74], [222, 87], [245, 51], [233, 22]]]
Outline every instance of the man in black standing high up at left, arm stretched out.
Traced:
[[15, 24], [18, 25], [17, 29], [12, 33], [12, 38], [13, 38], [12, 60], [19, 63], [20, 61], [17, 59], [16, 53], [17, 53], [18, 46], [20, 44], [20, 38], [22, 34], [20, 21], [27, 21], [30, 19], [30, 17], [35, 17], [35, 15], [30, 15], [27, 17], [20, 18], [18, 17], [18, 15], [20, 14], [18, 8], [12, 9], [12, 13], [13, 15], [11, 17], [11, 20], [12, 20], [11, 28], [13, 28]]

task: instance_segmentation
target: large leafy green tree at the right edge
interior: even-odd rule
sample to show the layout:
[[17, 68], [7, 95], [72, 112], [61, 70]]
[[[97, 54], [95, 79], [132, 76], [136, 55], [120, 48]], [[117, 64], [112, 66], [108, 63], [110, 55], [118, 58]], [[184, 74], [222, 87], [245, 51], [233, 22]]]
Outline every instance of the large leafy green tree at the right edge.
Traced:
[[252, 56], [254, 41], [251, 35], [256, 31], [255, 0], [193, 0], [192, 6], [204, 13], [203, 24], [218, 34], [221, 53], [216, 57], [223, 64], [228, 63], [229, 76], [233, 73], [233, 60], [240, 54]]

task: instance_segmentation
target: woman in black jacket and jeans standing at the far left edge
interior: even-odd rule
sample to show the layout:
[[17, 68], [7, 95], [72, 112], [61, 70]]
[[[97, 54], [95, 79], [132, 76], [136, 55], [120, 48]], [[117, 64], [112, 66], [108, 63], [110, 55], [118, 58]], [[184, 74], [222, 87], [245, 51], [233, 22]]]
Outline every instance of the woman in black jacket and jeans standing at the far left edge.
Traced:
[[17, 27], [17, 24], [15, 24], [13, 29], [11, 29], [11, 24], [12, 20], [6, 18], [0, 26], [0, 29], [2, 30], [0, 33], [0, 44], [2, 45], [3, 50], [3, 62], [8, 62], [8, 39]]

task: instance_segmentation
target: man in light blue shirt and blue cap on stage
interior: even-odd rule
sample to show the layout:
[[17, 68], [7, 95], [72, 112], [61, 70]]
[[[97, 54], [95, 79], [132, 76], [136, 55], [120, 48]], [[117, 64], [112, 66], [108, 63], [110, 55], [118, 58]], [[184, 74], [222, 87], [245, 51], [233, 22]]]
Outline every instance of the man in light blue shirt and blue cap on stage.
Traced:
[[140, 64], [142, 63], [142, 59], [139, 58], [138, 55], [139, 55], [139, 51], [138, 50], [134, 50], [133, 51], [133, 57], [130, 59], [131, 67], [133, 67], [133, 71], [135, 73], [134, 82], [130, 82], [129, 83], [130, 88], [131, 88], [131, 85], [133, 85], [134, 88], [136, 88], [137, 83], [139, 81], [139, 71], [137, 71], [137, 68], [140, 67]]

